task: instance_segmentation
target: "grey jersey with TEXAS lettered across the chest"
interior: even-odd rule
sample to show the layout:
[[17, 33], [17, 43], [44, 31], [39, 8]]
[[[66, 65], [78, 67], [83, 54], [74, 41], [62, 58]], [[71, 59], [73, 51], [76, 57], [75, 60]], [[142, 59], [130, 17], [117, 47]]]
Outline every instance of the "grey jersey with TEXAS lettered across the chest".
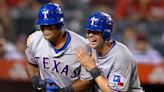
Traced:
[[80, 73], [84, 73], [76, 59], [75, 49], [87, 46], [86, 39], [80, 35], [67, 29], [64, 31], [67, 32], [67, 41], [61, 49], [55, 49], [41, 31], [36, 31], [28, 38], [25, 50], [29, 62], [38, 65], [41, 79], [51, 78], [61, 88], [72, 84], [80, 78]]

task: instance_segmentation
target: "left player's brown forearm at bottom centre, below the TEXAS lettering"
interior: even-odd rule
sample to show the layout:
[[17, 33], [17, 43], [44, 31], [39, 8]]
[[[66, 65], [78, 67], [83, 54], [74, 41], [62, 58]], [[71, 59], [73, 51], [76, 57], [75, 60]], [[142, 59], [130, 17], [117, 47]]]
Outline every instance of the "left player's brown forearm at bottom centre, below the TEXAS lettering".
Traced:
[[74, 92], [85, 92], [91, 88], [93, 80], [77, 80], [72, 84]]

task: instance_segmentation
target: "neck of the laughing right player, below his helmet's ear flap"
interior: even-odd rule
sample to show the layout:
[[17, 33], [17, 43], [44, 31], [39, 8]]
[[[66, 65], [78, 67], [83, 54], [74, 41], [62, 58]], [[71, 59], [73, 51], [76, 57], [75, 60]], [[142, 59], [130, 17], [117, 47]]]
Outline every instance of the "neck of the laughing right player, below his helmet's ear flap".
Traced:
[[106, 55], [112, 49], [112, 42], [104, 42], [101, 48], [97, 50], [99, 56]]

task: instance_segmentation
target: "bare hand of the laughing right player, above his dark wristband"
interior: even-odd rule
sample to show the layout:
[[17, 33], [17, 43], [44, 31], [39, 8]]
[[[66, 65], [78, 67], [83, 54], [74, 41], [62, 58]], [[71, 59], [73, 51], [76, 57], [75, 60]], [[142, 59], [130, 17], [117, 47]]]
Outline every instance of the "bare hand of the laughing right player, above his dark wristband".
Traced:
[[83, 47], [76, 49], [76, 56], [86, 70], [90, 71], [96, 67], [94, 54], [91, 53], [91, 55], [88, 55]]

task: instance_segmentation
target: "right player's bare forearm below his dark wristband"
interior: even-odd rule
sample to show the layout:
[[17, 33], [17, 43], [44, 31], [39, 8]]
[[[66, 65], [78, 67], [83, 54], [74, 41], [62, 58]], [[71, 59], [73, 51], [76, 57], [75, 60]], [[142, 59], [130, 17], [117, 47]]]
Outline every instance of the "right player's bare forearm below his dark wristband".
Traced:
[[104, 76], [99, 75], [96, 79], [95, 79], [97, 85], [99, 86], [99, 88], [101, 89], [102, 92], [112, 92], [111, 89], [109, 88], [109, 84], [108, 81], [104, 78]]

